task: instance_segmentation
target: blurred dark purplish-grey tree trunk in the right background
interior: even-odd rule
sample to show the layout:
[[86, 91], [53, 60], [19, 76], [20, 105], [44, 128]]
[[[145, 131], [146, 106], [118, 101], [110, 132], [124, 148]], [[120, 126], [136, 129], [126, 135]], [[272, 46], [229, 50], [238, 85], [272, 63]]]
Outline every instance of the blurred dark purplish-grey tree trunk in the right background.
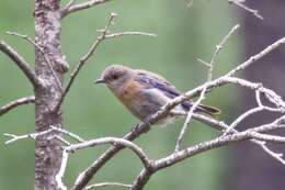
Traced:
[[[244, 53], [247, 57], [261, 51], [285, 35], [284, 0], [249, 0], [250, 8], [260, 10], [264, 21], [244, 12]], [[246, 70], [246, 78], [251, 81], [261, 81], [265, 87], [274, 89], [278, 94], [285, 96], [285, 48], [281, 46], [261, 62]], [[254, 107], [254, 94], [244, 93], [241, 101], [242, 110]], [[269, 113], [258, 114], [241, 124], [250, 126], [256, 123], [266, 123], [273, 120]], [[272, 147], [272, 146], [271, 146]], [[284, 153], [284, 148], [274, 146], [274, 149]], [[244, 190], [283, 190], [285, 187], [285, 169], [281, 163], [272, 159], [261, 148], [250, 143], [235, 146], [232, 171], [229, 174], [229, 187], [225, 189]]]

